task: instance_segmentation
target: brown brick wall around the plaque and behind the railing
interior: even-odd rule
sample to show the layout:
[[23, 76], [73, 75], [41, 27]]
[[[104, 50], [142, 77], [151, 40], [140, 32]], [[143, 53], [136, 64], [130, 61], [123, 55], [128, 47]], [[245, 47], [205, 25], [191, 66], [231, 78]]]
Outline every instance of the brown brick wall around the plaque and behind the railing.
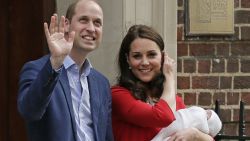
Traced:
[[[245, 102], [245, 120], [250, 121], [250, 1], [235, 0], [235, 34], [230, 36], [185, 36], [185, 3], [178, 0], [177, 89], [185, 104], [214, 108], [221, 104], [221, 120], [239, 119], [240, 100]], [[225, 126], [236, 135], [238, 125]], [[246, 124], [250, 135], [250, 124]]]

